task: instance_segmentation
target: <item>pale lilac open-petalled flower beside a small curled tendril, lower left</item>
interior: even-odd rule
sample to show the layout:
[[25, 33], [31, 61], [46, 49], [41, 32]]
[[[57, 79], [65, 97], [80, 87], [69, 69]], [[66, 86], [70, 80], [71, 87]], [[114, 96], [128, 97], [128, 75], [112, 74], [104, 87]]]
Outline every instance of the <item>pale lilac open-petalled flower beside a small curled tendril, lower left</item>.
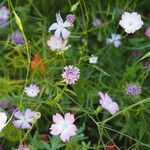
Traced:
[[36, 112], [32, 111], [31, 109], [26, 109], [24, 113], [20, 112], [19, 110], [14, 112], [14, 117], [17, 119], [13, 121], [13, 124], [16, 128], [21, 129], [30, 129], [32, 123], [34, 122], [34, 116]]

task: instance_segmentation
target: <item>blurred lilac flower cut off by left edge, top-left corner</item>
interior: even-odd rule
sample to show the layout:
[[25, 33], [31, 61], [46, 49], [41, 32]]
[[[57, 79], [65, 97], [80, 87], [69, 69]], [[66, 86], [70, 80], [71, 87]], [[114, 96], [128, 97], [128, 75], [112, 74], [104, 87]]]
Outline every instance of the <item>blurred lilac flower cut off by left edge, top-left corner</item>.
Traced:
[[7, 9], [6, 6], [1, 6], [0, 7], [0, 27], [5, 27], [7, 24], [7, 20], [9, 18], [9, 10]]

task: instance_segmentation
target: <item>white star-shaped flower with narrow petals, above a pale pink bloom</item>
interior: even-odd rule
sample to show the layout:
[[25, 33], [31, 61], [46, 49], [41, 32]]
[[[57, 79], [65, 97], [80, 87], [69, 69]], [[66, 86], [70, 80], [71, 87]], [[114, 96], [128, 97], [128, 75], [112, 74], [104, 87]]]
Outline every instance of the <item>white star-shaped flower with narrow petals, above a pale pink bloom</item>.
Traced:
[[48, 31], [50, 32], [52, 30], [56, 30], [55, 36], [60, 37], [62, 35], [64, 39], [67, 39], [70, 35], [70, 31], [68, 31], [66, 28], [71, 27], [72, 23], [68, 22], [67, 20], [63, 22], [60, 12], [56, 13], [56, 21], [57, 23], [53, 23], [49, 27]]

